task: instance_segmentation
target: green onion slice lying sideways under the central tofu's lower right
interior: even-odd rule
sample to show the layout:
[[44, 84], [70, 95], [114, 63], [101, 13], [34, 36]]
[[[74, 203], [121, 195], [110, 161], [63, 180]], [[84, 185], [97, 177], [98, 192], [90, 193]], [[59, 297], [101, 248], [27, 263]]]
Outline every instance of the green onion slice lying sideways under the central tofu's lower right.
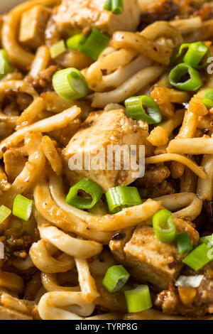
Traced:
[[124, 208], [129, 208], [142, 203], [141, 197], [136, 187], [123, 187], [119, 185], [116, 188], [110, 188], [105, 194], [109, 212], [114, 214]]

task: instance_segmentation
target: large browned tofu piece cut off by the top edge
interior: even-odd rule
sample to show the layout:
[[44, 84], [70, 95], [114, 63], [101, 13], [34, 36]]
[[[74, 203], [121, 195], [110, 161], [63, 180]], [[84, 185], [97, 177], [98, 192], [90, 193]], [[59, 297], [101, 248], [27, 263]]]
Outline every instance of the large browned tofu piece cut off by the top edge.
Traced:
[[103, 9], [106, 0], [63, 0], [55, 21], [58, 30], [69, 35], [84, 28], [97, 28], [109, 35], [114, 31], [136, 31], [141, 10], [137, 0], [124, 0], [120, 15]]

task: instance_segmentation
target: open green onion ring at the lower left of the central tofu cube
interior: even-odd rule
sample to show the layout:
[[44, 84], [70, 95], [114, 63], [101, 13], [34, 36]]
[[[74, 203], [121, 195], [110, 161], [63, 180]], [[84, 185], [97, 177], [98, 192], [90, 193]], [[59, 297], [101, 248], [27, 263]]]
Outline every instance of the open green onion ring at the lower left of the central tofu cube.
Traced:
[[[78, 195], [78, 192], [83, 190], [91, 198], [83, 198]], [[102, 188], [93, 181], [87, 180], [86, 178], [79, 181], [70, 188], [67, 194], [66, 202], [75, 208], [79, 209], [91, 209], [102, 197]]]

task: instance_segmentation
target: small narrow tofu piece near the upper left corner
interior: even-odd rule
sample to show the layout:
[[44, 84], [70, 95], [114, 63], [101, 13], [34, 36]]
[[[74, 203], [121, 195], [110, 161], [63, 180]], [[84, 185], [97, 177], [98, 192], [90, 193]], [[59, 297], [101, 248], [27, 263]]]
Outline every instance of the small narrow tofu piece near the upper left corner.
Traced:
[[33, 49], [42, 45], [44, 43], [45, 26], [50, 13], [50, 9], [42, 5], [24, 11], [21, 16], [19, 42]]

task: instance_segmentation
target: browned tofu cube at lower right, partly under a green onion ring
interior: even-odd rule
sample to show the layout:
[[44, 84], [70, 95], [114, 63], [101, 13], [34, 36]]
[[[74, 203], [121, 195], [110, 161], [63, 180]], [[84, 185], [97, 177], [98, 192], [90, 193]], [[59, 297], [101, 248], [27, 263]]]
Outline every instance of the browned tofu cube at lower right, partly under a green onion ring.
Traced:
[[[174, 222], [178, 234], [187, 232], [192, 244], [197, 244], [199, 234], [188, 222], [175, 217]], [[159, 242], [153, 227], [148, 225], [138, 225], [125, 245], [112, 240], [109, 247], [114, 257], [129, 268], [132, 276], [159, 291], [168, 289], [178, 277], [185, 257], [185, 254], [179, 254], [176, 242]]]

